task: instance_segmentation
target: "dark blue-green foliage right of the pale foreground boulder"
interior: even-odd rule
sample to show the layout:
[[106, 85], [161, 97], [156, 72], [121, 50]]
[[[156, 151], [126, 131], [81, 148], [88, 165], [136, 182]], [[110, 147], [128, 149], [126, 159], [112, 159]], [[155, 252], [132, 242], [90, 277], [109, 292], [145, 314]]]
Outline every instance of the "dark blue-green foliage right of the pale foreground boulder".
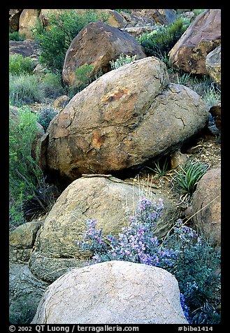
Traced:
[[[165, 244], [164, 244], [165, 245]], [[166, 239], [168, 248], [178, 252], [175, 265], [168, 271], [178, 281], [189, 307], [189, 323], [220, 323], [220, 247], [203, 238], [178, 220], [173, 234]]]

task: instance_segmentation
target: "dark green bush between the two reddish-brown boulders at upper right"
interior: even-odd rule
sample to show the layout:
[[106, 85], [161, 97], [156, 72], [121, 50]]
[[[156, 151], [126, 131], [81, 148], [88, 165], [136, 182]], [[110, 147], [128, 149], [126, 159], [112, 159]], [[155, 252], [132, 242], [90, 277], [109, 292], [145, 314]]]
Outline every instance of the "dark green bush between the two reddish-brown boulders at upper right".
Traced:
[[179, 18], [167, 26], [159, 24], [156, 30], [144, 33], [137, 40], [145, 48], [146, 55], [164, 59], [188, 26], [187, 20]]

